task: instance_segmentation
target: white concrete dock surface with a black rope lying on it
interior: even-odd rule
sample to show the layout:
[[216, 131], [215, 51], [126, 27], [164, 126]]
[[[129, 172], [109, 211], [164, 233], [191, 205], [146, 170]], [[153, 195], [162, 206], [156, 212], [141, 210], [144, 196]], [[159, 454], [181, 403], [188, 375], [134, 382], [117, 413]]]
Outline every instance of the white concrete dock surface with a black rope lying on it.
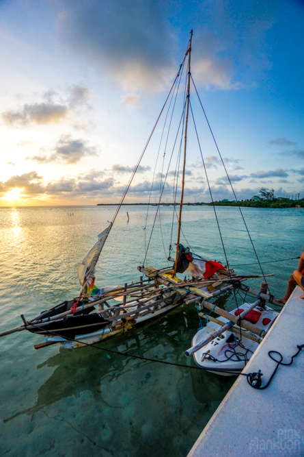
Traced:
[[[262, 371], [268, 382], [279, 351], [290, 362], [304, 344], [304, 300], [298, 286], [243, 373]], [[304, 348], [290, 367], [279, 366], [270, 386], [256, 390], [239, 376], [188, 457], [304, 456]]]

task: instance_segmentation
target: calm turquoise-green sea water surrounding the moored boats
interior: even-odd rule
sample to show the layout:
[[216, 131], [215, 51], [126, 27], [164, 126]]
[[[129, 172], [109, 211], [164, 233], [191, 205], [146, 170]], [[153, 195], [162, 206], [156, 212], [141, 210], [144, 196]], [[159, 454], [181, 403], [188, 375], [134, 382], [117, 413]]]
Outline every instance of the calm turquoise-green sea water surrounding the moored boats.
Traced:
[[[79, 293], [77, 262], [107, 227], [113, 206], [0, 208], [0, 331], [22, 324]], [[130, 216], [127, 223], [126, 211]], [[124, 206], [96, 272], [98, 286], [139, 280], [137, 265], [165, 267], [174, 254], [173, 207]], [[69, 215], [69, 213], [73, 215]], [[303, 210], [243, 208], [261, 262], [299, 256]], [[237, 208], [217, 208], [223, 243], [238, 273], [260, 274]], [[146, 231], [143, 228], [146, 225]], [[213, 208], [185, 206], [181, 242], [210, 260], [225, 262]], [[172, 232], [172, 238], [171, 238]], [[162, 236], [163, 235], [163, 243]], [[186, 240], [185, 240], [185, 238]], [[150, 240], [150, 243], [149, 243]], [[263, 264], [271, 293], [284, 295], [297, 260]], [[247, 284], [259, 288], [262, 280]], [[240, 297], [238, 297], [241, 303]], [[230, 293], [217, 299], [235, 307]], [[93, 347], [35, 350], [42, 337], [19, 332], [0, 339], [1, 456], [186, 456], [236, 378], [194, 367], [184, 357], [199, 319], [194, 304], [100, 347], [127, 350], [187, 368], [125, 358]]]

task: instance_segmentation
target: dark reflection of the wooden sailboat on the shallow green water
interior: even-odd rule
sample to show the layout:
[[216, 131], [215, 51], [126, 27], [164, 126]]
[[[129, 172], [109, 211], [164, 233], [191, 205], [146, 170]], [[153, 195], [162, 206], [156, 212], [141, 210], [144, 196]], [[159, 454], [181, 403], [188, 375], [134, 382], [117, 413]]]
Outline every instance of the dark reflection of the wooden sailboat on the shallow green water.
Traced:
[[[159, 319], [158, 323], [150, 323], [145, 328], [113, 338], [98, 347], [128, 351], [128, 354], [186, 365], [187, 360], [180, 348], [189, 346], [189, 341], [191, 341], [189, 337], [192, 336], [193, 328], [196, 328], [197, 323], [195, 309], [187, 309], [182, 306], [180, 310], [175, 310], [171, 315]], [[152, 325], [154, 326], [153, 332], [151, 331]], [[190, 362], [192, 365], [192, 360], [188, 361], [189, 364]], [[148, 360], [126, 358], [94, 347], [75, 350], [59, 349], [58, 354], [45, 360], [37, 366], [37, 369], [40, 370], [44, 367], [55, 367], [55, 370], [38, 389], [36, 404], [6, 418], [4, 422], [11, 421], [20, 415], [34, 415], [67, 397], [74, 396], [77, 399], [83, 392], [89, 392], [92, 401], [100, 404], [102, 408], [113, 407], [113, 402], [109, 402], [109, 391], [117, 393], [122, 389], [136, 397], [138, 388], [149, 393], [155, 383], [162, 391], [161, 395], [170, 397], [172, 389], [176, 389], [176, 385], [174, 382], [170, 382], [168, 374], [172, 380], [178, 378], [189, 386], [192, 384], [195, 399], [202, 404], [202, 410], [208, 412], [212, 403], [219, 402], [233, 382], [233, 380], [223, 379], [202, 370], [191, 369], [191, 367], [174, 367]], [[181, 398], [184, 397], [183, 394], [179, 395]], [[188, 401], [189, 398], [182, 398], [182, 408], [186, 408]], [[120, 408], [120, 405], [115, 407]], [[202, 417], [202, 411], [200, 414]], [[193, 423], [197, 420], [199, 420], [199, 416], [196, 419], [193, 416]]]

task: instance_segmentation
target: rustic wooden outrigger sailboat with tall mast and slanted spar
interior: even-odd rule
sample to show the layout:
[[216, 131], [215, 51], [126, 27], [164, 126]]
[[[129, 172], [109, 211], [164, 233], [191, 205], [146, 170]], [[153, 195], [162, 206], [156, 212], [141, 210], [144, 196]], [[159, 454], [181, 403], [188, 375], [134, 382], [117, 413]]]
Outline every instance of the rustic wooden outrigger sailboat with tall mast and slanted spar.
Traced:
[[[109, 225], [99, 235], [96, 243], [89, 249], [89, 252], [79, 262], [77, 275], [81, 284], [79, 297], [74, 297], [63, 301], [62, 303], [44, 310], [33, 319], [27, 320], [23, 314], [21, 319], [23, 325], [12, 330], [2, 332], [0, 336], [5, 336], [15, 332], [27, 330], [34, 334], [43, 336], [43, 342], [35, 345], [36, 349], [47, 347], [49, 345], [60, 344], [64, 348], [77, 348], [83, 345], [90, 345], [104, 341], [106, 338], [126, 333], [129, 330], [137, 328], [139, 325], [144, 325], [150, 321], [154, 321], [163, 317], [165, 314], [176, 309], [178, 306], [186, 303], [197, 303], [206, 309], [219, 312], [213, 304], [210, 304], [207, 299], [213, 299], [224, 291], [242, 288], [243, 282], [252, 276], [236, 275], [234, 269], [231, 269], [228, 262], [225, 265], [221, 262], [207, 260], [193, 253], [189, 247], [184, 247], [180, 242], [181, 225], [182, 225], [182, 209], [184, 203], [184, 181], [186, 172], [186, 146], [189, 114], [192, 113], [190, 102], [190, 88], [193, 78], [191, 75], [191, 46], [193, 32], [191, 31], [189, 43], [186, 47], [186, 53], [182, 64], [176, 73], [176, 77], [169, 91], [169, 95], [165, 100], [161, 113], [156, 120], [152, 129], [148, 142], [141, 155], [133, 174], [130, 177], [128, 185], [124, 190], [118, 208], [115, 210], [113, 219]], [[159, 119], [165, 110], [165, 106], [169, 109], [172, 107], [172, 112], [175, 106], [175, 100], [180, 88], [180, 79], [182, 73], [186, 69], [184, 102], [182, 105], [182, 116], [178, 125], [180, 134], [180, 156], [182, 155], [182, 184], [180, 186], [180, 199], [177, 201], [177, 180], [174, 188], [174, 204], [172, 207], [173, 214], [177, 215], [177, 239], [176, 239], [176, 254], [174, 257], [169, 255], [168, 262], [172, 262], [171, 267], [156, 269], [155, 267], [143, 264], [137, 267], [141, 273], [138, 282], [126, 283], [124, 286], [104, 286], [98, 288], [95, 284], [96, 264], [100, 258], [102, 248], [104, 247], [107, 238], [111, 232], [115, 219], [118, 216], [122, 203], [128, 193], [128, 190], [133, 182], [133, 178], [141, 159], [150, 142], [150, 138], [158, 125]], [[194, 84], [194, 82], [193, 82]], [[196, 90], [196, 88], [195, 88]], [[171, 98], [170, 98], [171, 97]], [[169, 101], [170, 99], [170, 101]], [[171, 106], [171, 108], [170, 108]], [[168, 111], [169, 112], [169, 111]], [[167, 116], [166, 116], [167, 119]], [[171, 121], [170, 121], [171, 123]], [[167, 143], [166, 143], [167, 144]], [[175, 144], [175, 143], [174, 143]], [[183, 147], [182, 147], [183, 145]], [[165, 156], [165, 155], [164, 155]], [[179, 161], [177, 162], [179, 166]], [[161, 197], [165, 186], [165, 181], [161, 184], [160, 197], [157, 206], [156, 215], [160, 211]], [[151, 206], [154, 206], [151, 205]], [[176, 207], [179, 206], [178, 214]], [[149, 208], [149, 205], [148, 205]], [[171, 253], [171, 245], [170, 245]], [[146, 260], [146, 258], [145, 258]], [[183, 279], [181, 278], [183, 276]], [[146, 279], [144, 279], [144, 277]], [[257, 277], [257, 276], [255, 276]], [[260, 277], [260, 276], [258, 276]], [[265, 275], [263, 275], [265, 277]], [[254, 291], [253, 291], [254, 293]], [[257, 293], [255, 291], [255, 293]], [[265, 291], [260, 295], [260, 299], [268, 301], [269, 295]], [[208, 308], [209, 307], [209, 308]], [[210, 308], [211, 307], [211, 308]], [[250, 308], [250, 307], [249, 307]], [[224, 317], [228, 322], [232, 319], [232, 314], [227, 313]], [[236, 318], [235, 318], [236, 319]], [[242, 329], [248, 332], [260, 332], [252, 327], [252, 323], [242, 320]], [[236, 326], [234, 326], [236, 328]], [[230, 325], [230, 330], [232, 325]], [[264, 334], [267, 328], [264, 329]], [[234, 330], [232, 330], [233, 332]], [[223, 333], [223, 332], [222, 332]], [[200, 336], [199, 336], [200, 338]]]

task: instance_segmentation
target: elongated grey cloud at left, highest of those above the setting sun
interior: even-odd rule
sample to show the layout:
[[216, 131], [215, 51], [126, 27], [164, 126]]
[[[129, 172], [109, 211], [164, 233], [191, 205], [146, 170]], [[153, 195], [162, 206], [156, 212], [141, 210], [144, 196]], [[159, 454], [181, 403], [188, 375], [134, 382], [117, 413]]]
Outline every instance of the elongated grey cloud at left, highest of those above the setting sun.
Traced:
[[81, 85], [73, 85], [68, 88], [66, 101], [55, 101], [54, 97], [58, 98], [57, 93], [50, 89], [42, 95], [46, 101], [25, 103], [18, 110], [7, 110], [2, 113], [2, 119], [10, 127], [61, 123], [75, 110], [87, 106], [89, 90]]

